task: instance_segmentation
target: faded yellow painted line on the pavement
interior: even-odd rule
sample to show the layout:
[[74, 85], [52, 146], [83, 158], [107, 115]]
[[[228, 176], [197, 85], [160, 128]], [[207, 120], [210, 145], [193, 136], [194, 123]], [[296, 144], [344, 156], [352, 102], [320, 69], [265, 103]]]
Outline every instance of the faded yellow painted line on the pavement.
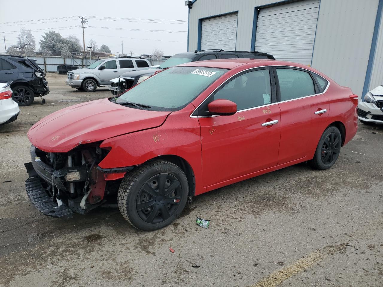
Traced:
[[286, 279], [313, 266], [315, 263], [322, 261], [327, 256], [344, 249], [346, 249], [346, 246], [344, 244], [340, 244], [334, 246], [326, 246], [325, 248], [315, 250], [308, 254], [308, 256], [269, 274], [266, 278], [260, 280], [254, 285], [251, 285], [250, 287], [276, 287], [282, 284]]

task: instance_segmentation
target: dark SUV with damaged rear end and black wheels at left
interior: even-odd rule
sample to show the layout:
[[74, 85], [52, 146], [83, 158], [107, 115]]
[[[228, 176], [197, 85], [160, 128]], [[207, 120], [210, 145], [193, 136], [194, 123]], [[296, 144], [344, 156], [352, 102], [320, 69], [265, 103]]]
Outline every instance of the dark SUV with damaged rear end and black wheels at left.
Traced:
[[0, 81], [13, 81], [12, 98], [19, 106], [29, 106], [34, 96], [49, 93], [45, 72], [36, 60], [21, 56], [0, 55]]

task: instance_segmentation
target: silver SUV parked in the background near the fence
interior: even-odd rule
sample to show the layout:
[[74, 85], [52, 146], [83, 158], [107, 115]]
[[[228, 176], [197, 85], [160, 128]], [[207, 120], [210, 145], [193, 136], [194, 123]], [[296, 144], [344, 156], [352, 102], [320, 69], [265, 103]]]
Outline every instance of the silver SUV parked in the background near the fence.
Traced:
[[68, 72], [65, 83], [80, 91], [94, 92], [97, 87], [108, 86], [111, 79], [123, 73], [146, 70], [149, 66], [149, 60], [136, 57], [100, 59], [87, 68]]

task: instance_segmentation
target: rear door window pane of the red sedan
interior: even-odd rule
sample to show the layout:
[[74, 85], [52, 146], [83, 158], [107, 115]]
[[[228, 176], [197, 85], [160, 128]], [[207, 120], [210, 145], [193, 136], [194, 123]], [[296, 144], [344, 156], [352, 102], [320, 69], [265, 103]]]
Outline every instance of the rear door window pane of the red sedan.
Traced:
[[315, 95], [314, 82], [308, 72], [277, 68], [280, 101]]

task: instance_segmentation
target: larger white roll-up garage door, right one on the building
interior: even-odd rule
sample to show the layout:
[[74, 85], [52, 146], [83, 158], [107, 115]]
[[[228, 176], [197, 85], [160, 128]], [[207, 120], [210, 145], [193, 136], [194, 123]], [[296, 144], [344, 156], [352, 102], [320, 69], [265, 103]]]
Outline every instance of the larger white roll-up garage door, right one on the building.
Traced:
[[255, 50], [275, 59], [311, 64], [319, 0], [304, 0], [260, 9]]

